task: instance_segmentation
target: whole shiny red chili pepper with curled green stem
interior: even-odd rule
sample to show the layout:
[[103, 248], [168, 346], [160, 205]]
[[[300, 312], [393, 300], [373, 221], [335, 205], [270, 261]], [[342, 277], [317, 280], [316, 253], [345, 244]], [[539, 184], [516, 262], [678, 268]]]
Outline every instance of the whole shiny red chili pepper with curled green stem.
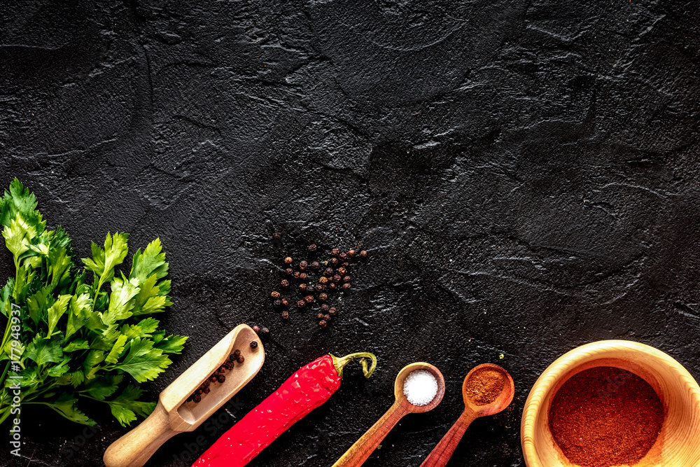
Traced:
[[[279, 435], [323, 404], [340, 387], [343, 368], [362, 358], [362, 370], [370, 377], [377, 358], [360, 352], [342, 358], [324, 355], [297, 370], [258, 407], [248, 412], [207, 449], [193, 467], [242, 467]], [[367, 368], [370, 358], [372, 366]]]

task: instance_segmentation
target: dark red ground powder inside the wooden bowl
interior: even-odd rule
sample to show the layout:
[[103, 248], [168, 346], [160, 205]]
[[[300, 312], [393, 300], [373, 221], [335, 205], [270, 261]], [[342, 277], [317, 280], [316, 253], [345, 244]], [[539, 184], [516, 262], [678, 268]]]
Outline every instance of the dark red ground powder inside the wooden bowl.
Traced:
[[644, 379], [612, 367], [590, 368], [565, 382], [549, 408], [549, 429], [571, 463], [634, 465], [656, 441], [664, 405]]

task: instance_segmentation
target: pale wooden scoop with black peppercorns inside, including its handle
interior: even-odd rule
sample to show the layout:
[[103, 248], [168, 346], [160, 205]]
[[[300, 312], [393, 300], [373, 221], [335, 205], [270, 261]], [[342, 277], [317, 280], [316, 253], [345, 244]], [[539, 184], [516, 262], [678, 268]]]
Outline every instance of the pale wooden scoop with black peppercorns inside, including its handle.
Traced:
[[[251, 348], [251, 342], [258, 342], [258, 347]], [[225, 382], [211, 383], [211, 391], [202, 394], [200, 402], [186, 402], [236, 349], [245, 361], [225, 373]], [[107, 448], [104, 465], [143, 466], [164, 442], [183, 431], [193, 431], [214, 414], [258, 374], [264, 361], [265, 349], [255, 331], [246, 324], [236, 326], [160, 393], [158, 405], [147, 419]]]

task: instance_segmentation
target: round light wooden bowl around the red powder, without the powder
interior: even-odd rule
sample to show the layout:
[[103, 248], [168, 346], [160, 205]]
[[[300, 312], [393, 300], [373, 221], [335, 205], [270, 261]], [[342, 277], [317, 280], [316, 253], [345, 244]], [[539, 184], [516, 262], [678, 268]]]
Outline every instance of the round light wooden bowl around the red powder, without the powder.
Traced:
[[635, 467], [700, 466], [700, 387], [664, 352], [626, 340], [602, 340], [567, 352], [549, 365], [530, 391], [521, 423], [528, 467], [571, 467], [549, 431], [554, 394], [567, 379], [596, 366], [633, 372], [652, 386], [664, 404], [664, 424], [650, 451]]

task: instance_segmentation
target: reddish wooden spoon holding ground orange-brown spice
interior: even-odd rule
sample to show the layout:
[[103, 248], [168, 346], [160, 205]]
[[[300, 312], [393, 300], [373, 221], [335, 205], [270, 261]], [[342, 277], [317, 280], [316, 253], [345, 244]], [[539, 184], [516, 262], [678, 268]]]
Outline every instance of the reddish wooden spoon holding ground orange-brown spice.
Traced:
[[[472, 378], [479, 378], [482, 382], [498, 382], [498, 379], [494, 378], [494, 376], [500, 376], [502, 378], [500, 381], [503, 382], [503, 386], [500, 388], [498, 396], [493, 400], [490, 400], [489, 392], [493, 393], [498, 386], [484, 386], [487, 390], [479, 392], [476, 388], [481, 387], [481, 385], [470, 384]], [[484, 379], [484, 377], [489, 377], [489, 379]], [[446, 466], [454, 449], [459, 444], [459, 440], [462, 439], [464, 432], [467, 431], [472, 421], [478, 417], [497, 414], [505, 409], [513, 400], [514, 393], [515, 386], [512, 377], [510, 377], [507, 371], [500, 368], [500, 366], [491, 363], [483, 363], [482, 365], [477, 365], [472, 368], [467, 377], [464, 378], [462, 384], [462, 397], [464, 398], [465, 405], [464, 412], [462, 412], [461, 417], [457, 419], [455, 424], [452, 425], [452, 428], [449, 428], [449, 431], [444, 435], [442, 440], [437, 443], [433, 452], [430, 452], [426, 460], [421, 463], [421, 467]], [[490, 401], [486, 403], [487, 400]]]

